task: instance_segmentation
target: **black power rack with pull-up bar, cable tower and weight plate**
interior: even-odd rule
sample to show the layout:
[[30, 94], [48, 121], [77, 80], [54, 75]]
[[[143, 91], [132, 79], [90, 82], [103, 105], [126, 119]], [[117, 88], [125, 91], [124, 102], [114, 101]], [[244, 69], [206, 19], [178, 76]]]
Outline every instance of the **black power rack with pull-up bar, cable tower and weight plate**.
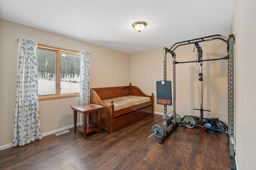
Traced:
[[[202, 48], [200, 47], [199, 43], [200, 42], [204, 42], [204, 41], [212, 41], [215, 39], [219, 39], [221, 41], [224, 41], [227, 44], [227, 56], [222, 57], [222, 58], [218, 58], [218, 59], [207, 59], [207, 60], [203, 60], [203, 56], [202, 56]], [[236, 163], [235, 163], [235, 150], [234, 150], [234, 144], [235, 144], [235, 139], [234, 139], [234, 117], [235, 117], [235, 112], [234, 112], [234, 35], [229, 35], [229, 37], [224, 37], [222, 35], [210, 35], [210, 36], [206, 36], [206, 37], [201, 37], [201, 38], [197, 38], [197, 39], [190, 39], [187, 41], [181, 41], [178, 43], [175, 43], [174, 45], [172, 45], [172, 47], [170, 47], [170, 49], [164, 47], [163, 48], [163, 64], [164, 64], [164, 80], [157, 82], [157, 91], [159, 91], [158, 87], [160, 87], [160, 82], [162, 85], [164, 84], [169, 84], [170, 82], [168, 82], [166, 80], [166, 55], [167, 53], [170, 53], [172, 55], [172, 59], [173, 59], [173, 88], [172, 88], [172, 92], [173, 92], [173, 100], [168, 103], [165, 104], [164, 102], [162, 103], [158, 103], [158, 104], [163, 104], [164, 105], [164, 123], [162, 124], [162, 127], [159, 125], [153, 125], [151, 130], [152, 130], [152, 135], [150, 135], [148, 138], [155, 136], [157, 138], [160, 139], [159, 144], [162, 144], [164, 142], [164, 140], [168, 137], [168, 135], [170, 134], [170, 132], [179, 124], [179, 123], [184, 123], [181, 122], [181, 118], [178, 114], [176, 114], [176, 64], [181, 64], [181, 63], [200, 63], [200, 69], [202, 69], [202, 65], [204, 61], [214, 61], [214, 60], [222, 60], [222, 59], [226, 59], [228, 60], [228, 137], [229, 137], [229, 150], [230, 150], [230, 161], [231, 161], [231, 168], [232, 169], [236, 169]], [[195, 48], [197, 49], [198, 52], [198, 58], [196, 61], [186, 61], [186, 62], [178, 62], [176, 61], [176, 53], [174, 52], [174, 50], [177, 47], [180, 47], [182, 45], [189, 45], [189, 44], [194, 44]], [[200, 81], [200, 85], [201, 85], [201, 92], [200, 92], [200, 109], [196, 109], [196, 110], [200, 110], [200, 117], [201, 117], [201, 122], [200, 124], [203, 123], [203, 112], [204, 111], [210, 111], [210, 110], [205, 110], [203, 109], [202, 103], [203, 103], [203, 99], [202, 99], [202, 80], [203, 80], [203, 74], [202, 72], [199, 71], [199, 81]], [[166, 88], [165, 88], [166, 90]], [[171, 100], [171, 99], [170, 99]], [[162, 100], [160, 100], [162, 101]], [[167, 117], [170, 113], [167, 113], [167, 106], [168, 105], [172, 105], [173, 104], [173, 111], [171, 111], [170, 113], [173, 112], [171, 117]], [[194, 126], [195, 123], [194, 122], [185, 122], [187, 125], [192, 125]], [[172, 127], [170, 128], [170, 130], [167, 130], [167, 127], [172, 125]], [[197, 125], [198, 126], [198, 125]]]

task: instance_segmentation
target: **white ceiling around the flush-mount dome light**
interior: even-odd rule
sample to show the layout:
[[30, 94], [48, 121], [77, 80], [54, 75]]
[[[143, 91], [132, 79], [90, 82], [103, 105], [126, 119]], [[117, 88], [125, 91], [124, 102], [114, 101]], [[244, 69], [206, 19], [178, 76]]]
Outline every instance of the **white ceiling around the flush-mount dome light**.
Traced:
[[[234, 0], [0, 0], [0, 18], [125, 53], [228, 36]], [[140, 33], [132, 24], [144, 21]]]

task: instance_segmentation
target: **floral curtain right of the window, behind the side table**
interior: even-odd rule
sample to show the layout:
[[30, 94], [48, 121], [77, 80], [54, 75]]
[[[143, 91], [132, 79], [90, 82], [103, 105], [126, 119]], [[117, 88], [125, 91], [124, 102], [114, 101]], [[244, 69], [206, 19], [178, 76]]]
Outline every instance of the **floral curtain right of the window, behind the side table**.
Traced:
[[[81, 52], [80, 64], [80, 97], [81, 104], [90, 103], [90, 53]], [[80, 125], [83, 125], [83, 114], [80, 113]]]

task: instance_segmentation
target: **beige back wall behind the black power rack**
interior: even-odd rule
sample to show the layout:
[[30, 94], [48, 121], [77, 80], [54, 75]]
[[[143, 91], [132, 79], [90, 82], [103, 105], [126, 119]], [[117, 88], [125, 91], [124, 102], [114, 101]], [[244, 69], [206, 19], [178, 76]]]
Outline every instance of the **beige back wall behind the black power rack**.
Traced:
[[[206, 35], [207, 36], [207, 35]], [[195, 37], [196, 38], [196, 37]], [[183, 40], [180, 40], [183, 41]], [[226, 43], [220, 40], [200, 43], [203, 49], [204, 59], [215, 59], [225, 57]], [[169, 47], [168, 47], [169, 48]], [[178, 47], [176, 61], [195, 61], [196, 52], [193, 53], [194, 45]], [[204, 112], [204, 117], [218, 117], [227, 123], [228, 119], [228, 78], [227, 60], [210, 61], [203, 63], [204, 78], [204, 109], [211, 112]], [[198, 69], [196, 63], [176, 64], [176, 113], [183, 115], [200, 116], [198, 97]], [[172, 57], [167, 54], [167, 80], [173, 82]], [[163, 80], [163, 50], [156, 49], [131, 55], [131, 82], [138, 86], [146, 94], [154, 93], [155, 112], [163, 113], [164, 107], [156, 104], [156, 81]], [[173, 110], [168, 106], [167, 112]], [[159, 122], [162, 124], [162, 122]]]

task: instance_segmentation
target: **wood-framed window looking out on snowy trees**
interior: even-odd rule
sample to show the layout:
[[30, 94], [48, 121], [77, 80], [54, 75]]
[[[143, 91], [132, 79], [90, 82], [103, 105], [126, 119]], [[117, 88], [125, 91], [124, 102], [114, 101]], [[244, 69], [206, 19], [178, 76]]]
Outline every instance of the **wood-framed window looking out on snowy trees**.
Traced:
[[80, 52], [38, 44], [39, 100], [80, 96]]

